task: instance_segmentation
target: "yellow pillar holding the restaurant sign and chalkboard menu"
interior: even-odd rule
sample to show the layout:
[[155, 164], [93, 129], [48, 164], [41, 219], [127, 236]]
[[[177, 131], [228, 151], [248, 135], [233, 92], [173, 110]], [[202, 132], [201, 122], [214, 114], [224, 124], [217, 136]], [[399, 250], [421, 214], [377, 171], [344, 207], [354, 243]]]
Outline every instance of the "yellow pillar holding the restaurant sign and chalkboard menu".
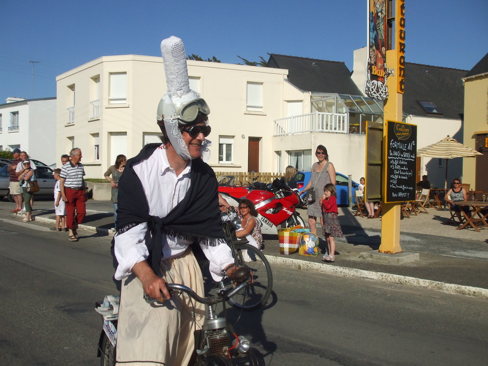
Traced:
[[[395, 65], [398, 59], [396, 49], [386, 51], [386, 60], [388, 65]], [[389, 76], [386, 80], [388, 87], [388, 99], [383, 109], [383, 182], [386, 184], [386, 123], [387, 121], [402, 122], [403, 111], [403, 94], [397, 92], [399, 82], [398, 68], [394, 68], [394, 75]], [[385, 190], [384, 190], [385, 192]], [[381, 218], [381, 244], [378, 253], [401, 253], [400, 246], [400, 204], [399, 203], [382, 203]]]

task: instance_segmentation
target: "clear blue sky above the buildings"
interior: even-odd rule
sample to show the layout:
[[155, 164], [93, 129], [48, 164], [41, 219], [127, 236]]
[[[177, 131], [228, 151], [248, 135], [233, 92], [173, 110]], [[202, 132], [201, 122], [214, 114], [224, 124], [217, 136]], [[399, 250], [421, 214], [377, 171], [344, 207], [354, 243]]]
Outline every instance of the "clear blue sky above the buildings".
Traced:
[[[366, 0], [2, 3], [0, 103], [56, 96], [56, 76], [107, 55], [161, 56], [161, 40], [226, 63], [267, 53], [344, 61], [366, 46]], [[488, 52], [487, 0], [407, 0], [406, 61], [469, 70]]]

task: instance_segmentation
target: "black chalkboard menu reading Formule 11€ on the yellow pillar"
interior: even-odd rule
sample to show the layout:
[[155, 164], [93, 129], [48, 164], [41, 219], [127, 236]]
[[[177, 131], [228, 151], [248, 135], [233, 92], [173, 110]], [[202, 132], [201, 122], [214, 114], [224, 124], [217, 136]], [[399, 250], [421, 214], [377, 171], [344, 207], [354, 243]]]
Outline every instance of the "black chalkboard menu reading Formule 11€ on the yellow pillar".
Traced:
[[388, 121], [386, 129], [385, 202], [415, 200], [417, 126]]

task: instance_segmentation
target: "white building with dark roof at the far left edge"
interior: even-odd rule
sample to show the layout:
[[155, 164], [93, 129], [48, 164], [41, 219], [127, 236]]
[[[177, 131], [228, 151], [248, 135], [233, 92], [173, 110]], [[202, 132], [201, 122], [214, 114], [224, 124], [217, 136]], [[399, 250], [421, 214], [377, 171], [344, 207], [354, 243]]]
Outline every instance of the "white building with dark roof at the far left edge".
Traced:
[[26, 151], [32, 159], [56, 162], [56, 98], [7, 98], [0, 104], [0, 148]]

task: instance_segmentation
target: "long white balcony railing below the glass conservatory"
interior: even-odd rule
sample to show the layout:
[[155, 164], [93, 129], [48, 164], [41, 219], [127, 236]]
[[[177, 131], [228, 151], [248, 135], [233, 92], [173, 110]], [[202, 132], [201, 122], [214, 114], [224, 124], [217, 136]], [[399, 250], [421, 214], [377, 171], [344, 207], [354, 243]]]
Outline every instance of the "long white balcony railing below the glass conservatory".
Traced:
[[280, 118], [274, 121], [274, 136], [293, 135], [304, 132], [347, 133], [347, 114], [308, 113]]

